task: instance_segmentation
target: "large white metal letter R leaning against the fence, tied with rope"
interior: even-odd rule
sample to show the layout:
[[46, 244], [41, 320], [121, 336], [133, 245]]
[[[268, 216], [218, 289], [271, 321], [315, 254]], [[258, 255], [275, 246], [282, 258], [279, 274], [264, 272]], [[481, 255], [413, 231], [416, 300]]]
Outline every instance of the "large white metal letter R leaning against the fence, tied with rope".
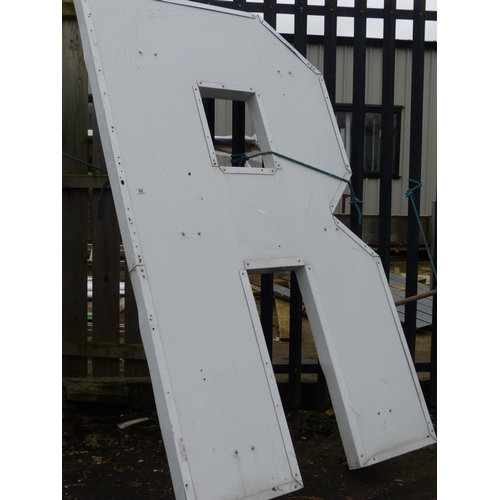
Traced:
[[[332, 215], [345, 184], [283, 158], [350, 176], [321, 74], [255, 14], [75, 4], [176, 498], [302, 487], [249, 271], [295, 270], [351, 468], [433, 443], [379, 258]], [[203, 97], [279, 155], [224, 165]]]

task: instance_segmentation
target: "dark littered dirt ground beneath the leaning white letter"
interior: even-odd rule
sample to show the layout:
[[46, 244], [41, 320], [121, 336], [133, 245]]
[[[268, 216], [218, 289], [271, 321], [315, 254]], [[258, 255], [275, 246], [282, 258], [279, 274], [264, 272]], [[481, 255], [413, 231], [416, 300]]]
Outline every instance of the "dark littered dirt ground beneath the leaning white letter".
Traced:
[[[134, 404], [63, 403], [64, 499], [175, 499], [152, 393], [141, 391]], [[436, 426], [436, 413], [431, 414]], [[147, 420], [118, 427], [137, 418]], [[287, 421], [304, 488], [280, 498], [436, 498], [436, 445], [349, 470], [335, 416], [288, 411]]]

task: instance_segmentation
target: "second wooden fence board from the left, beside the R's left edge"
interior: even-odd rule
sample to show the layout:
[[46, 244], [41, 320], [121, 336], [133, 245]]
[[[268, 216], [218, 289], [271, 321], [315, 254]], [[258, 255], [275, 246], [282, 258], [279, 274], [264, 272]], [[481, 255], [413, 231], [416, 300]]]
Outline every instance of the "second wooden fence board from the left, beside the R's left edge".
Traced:
[[[93, 124], [93, 163], [106, 168], [99, 128]], [[92, 341], [120, 342], [120, 229], [113, 195], [107, 188], [92, 193]], [[92, 358], [93, 377], [118, 377], [119, 359]]]

